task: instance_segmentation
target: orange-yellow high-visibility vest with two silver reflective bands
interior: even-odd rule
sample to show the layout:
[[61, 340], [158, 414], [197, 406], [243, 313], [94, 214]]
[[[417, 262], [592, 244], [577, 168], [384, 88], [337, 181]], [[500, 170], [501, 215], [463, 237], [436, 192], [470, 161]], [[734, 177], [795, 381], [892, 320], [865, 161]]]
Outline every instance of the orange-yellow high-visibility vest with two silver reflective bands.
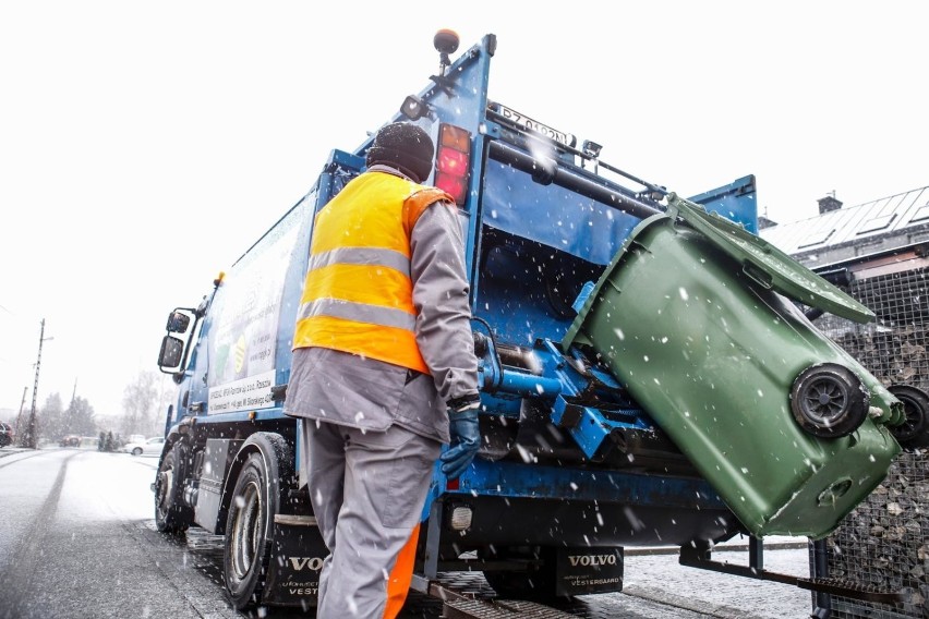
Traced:
[[293, 348], [321, 347], [429, 373], [417, 345], [410, 234], [446, 192], [386, 172], [352, 180], [316, 216]]

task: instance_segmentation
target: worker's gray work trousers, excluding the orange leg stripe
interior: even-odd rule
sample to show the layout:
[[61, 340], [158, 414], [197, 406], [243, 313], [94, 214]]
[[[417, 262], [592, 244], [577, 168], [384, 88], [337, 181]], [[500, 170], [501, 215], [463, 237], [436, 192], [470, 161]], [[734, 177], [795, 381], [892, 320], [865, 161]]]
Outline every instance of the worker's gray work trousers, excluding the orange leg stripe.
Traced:
[[393, 425], [303, 420], [310, 499], [329, 549], [318, 619], [379, 619], [397, 555], [419, 523], [442, 444]]

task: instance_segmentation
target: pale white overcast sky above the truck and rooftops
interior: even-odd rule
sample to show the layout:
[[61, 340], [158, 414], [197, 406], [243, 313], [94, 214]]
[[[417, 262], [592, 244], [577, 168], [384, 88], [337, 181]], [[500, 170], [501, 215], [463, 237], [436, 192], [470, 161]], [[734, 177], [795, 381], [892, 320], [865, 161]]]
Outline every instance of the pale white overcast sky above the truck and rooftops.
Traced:
[[756, 174], [786, 222], [929, 185], [924, 7], [2, 2], [0, 409], [45, 318], [38, 405], [119, 413], [168, 312], [426, 86], [441, 27], [497, 35], [493, 99], [684, 195]]

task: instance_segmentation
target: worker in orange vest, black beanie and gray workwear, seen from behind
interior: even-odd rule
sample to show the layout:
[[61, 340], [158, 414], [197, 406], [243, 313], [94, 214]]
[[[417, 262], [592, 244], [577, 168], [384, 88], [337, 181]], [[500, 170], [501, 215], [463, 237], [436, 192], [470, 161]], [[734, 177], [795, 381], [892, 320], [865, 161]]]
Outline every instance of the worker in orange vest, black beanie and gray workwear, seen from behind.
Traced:
[[329, 550], [322, 619], [397, 616], [442, 445], [449, 478], [480, 448], [464, 243], [451, 196], [421, 184], [433, 156], [421, 128], [383, 126], [314, 223], [285, 410]]

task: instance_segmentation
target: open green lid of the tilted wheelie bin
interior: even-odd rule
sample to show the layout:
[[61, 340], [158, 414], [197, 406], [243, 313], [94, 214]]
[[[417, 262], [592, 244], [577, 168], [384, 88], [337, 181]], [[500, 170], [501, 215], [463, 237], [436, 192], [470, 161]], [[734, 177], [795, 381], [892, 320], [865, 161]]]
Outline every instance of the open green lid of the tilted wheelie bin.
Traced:
[[856, 323], [874, 319], [874, 313], [848, 294], [741, 226], [671, 193], [668, 215], [678, 217], [713, 241], [722, 251], [746, 265], [749, 276], [799, 303]]

